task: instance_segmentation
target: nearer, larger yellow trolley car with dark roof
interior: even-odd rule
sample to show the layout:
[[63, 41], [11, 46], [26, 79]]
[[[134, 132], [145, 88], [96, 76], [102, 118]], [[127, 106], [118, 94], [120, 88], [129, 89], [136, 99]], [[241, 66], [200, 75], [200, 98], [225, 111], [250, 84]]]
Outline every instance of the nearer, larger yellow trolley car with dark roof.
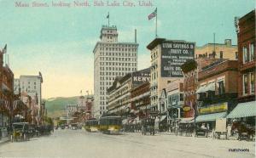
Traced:
[[119, 134], [121, 127], [120, 116], [102, 116], [100, 118], [100, 130], [102, 133]]

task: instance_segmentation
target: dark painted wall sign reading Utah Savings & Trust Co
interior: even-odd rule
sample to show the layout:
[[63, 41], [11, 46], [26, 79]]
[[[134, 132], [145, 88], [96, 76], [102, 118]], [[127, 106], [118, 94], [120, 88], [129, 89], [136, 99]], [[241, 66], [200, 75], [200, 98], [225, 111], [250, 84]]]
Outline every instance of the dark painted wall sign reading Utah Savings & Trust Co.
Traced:
[[195, 42], [166, 41], [161, 43], [161, 76], [183, 77], [181, 65], [194, 59]]

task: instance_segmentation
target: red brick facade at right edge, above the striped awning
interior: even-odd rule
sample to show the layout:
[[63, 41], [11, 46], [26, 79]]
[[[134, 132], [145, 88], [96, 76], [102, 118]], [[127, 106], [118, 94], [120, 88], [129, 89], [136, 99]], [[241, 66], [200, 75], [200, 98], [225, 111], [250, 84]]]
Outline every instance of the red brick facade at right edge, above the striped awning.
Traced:
[[[239, 102], [255, 100], [255, 9], [239, 19], [237, 38]], [[245, 55], [245, 52], [247, 52], [247, 55]], [[245, 78], [247, 79], [247, 84], [244, 83]]]

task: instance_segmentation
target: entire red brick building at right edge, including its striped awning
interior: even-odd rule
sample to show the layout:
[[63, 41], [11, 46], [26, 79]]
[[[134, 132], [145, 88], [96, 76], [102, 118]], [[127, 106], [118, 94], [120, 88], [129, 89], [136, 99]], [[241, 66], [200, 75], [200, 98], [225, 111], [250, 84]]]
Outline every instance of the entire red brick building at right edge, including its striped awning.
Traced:
[[246, 121], [255, 129], [255, 9], [240, 19], [236, 18], [238, 37], [238, 102], [228, 118]]

